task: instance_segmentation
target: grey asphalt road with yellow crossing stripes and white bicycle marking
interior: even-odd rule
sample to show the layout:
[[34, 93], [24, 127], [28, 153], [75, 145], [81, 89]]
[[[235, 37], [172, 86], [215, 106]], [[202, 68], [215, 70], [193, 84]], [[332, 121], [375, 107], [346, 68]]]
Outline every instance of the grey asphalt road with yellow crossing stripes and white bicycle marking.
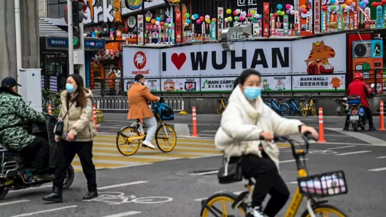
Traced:
[[[97, 167], [99, 197], [82, 201], [86, 180], [76, 158], [73, 166], [76, 177], [64, 192], [62, 204], [47, 204], [41, 200], [50, 192], [49, 185], [8, 193], [0, 201], [0, 217], [194, 217], [199, 216], [200, 200], [218, 191], [240, 192], [244, 183], [220, 185], [216, 173], [190, 175], [200, 170], [217, 170], [220, 153], [213, 138], [177, 138], [173, 151], [140, 148], [132, 156], [121, 155], [116, 147], [115, 134], [126, 125], [126, 114], [105, 114], [94, 140], [94, 163]], [[298, 117], [296, 117], [298, 118]], [[304, 123], [318, 126], [317, 117], [302, 117]], [[198, 115], [200, 136], [213, 136], [220, 116]], [[379, 117], [374, 117], [379, 124]], [[191, 116], [176, 116], [171, 123], [190, 124]], [[343, 170], [349, 192], [327, 198], [349, 216], [384, 217], [384, 177], [386, 177], [386, 136], [384, 131], [343, 132], [343, 117], [324, 117], [327, 143], [312, 143], [306, 156], [309, 174]], [[176, 125], [177, 127], [182, 125]], [[191, 130], [191, 125], [188, 125]], [[111, 132], [110, 134], [106, 132]], [[298, 139], [298, 136], [293, 138]], [[296, 189], [296, 167], [287, 144], [278, 144], [280, 171], [290, 192]], [[288, 203], [289, 204], [289, 203]], [[287, 208], [286, 205], [285, 209]], [[300, 211], [305, 209], [303, 202]], [[283, 209], [278, 216], [283, 216]], [[300, 216], [299, 215], [297, 216]]]

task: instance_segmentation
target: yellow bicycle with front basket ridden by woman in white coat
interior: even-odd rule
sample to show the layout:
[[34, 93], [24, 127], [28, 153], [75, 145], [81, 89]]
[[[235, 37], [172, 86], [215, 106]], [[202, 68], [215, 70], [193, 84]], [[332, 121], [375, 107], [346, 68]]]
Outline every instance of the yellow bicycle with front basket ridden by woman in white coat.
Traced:
[[[307, 209], [300, 215], [301, 217], [347, 217], [338, 208], [326, 204], [327, 200], [319, 200], [323, 197], [335, 196], [347, 193], [347, 185], [343, 171], [327, 172], [317, 175], [307, 175], [305, 155], [308, 152], [310, 136], [302, 135], [305, 141], [305, 148], [299, 143], [301, 149], [295, 150], [293, 140], [288, 137], [275, 137], [275, 141], [286, 141], [291, 144], [292, 154], [295, 158], [298, 170], [298, 188], [292, 198], [291, 204], [286, 211], [285, 217], [295, 217], [304, 197], [307, 199]], [[264, 138], [262, 138], [264, 139]], [[202, 201], [201, 217], [242, 217], [247, 213], [252, 201], [254, 182], [248, 179], [245, 192], [236, 195], [232, 192], [220, 192]], [[227, 210], [227, 205], [230, 209]]]

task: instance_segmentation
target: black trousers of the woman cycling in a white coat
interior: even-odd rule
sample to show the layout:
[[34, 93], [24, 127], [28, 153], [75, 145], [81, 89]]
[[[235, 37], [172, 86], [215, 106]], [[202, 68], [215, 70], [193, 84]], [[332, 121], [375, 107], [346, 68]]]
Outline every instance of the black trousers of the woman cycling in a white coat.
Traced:
[[244, 155], [240, 162], [245, 177], [256, 179], [255, 188], [252, 194], [252, 207], [261, 207], [267, 193], [271, 195], [264, 214], [274, 217], [284, 207], [289, 191], [287, 185], [279, 175], [275, 163], [267, 155]]

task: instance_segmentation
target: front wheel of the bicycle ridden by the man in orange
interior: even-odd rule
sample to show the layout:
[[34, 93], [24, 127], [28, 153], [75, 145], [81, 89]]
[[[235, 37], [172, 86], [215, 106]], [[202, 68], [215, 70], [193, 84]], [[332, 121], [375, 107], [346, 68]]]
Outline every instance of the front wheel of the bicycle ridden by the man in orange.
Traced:
[[155, 139], [159, 150], [163, 152], [169, 152], [176, 146], [176, 131], [169, 124], [161, 124], [157, 128]]

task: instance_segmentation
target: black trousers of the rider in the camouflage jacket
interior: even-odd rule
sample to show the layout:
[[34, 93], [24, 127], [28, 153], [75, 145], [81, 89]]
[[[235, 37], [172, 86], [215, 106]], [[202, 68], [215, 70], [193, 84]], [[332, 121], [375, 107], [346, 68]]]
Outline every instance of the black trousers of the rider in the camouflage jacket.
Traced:
[[35, 169], [37, 175], [47, 172], [49, 143], [45, 138], [36, 136], [34, 141], [24, 148], [21, 153], [25, 163]]

